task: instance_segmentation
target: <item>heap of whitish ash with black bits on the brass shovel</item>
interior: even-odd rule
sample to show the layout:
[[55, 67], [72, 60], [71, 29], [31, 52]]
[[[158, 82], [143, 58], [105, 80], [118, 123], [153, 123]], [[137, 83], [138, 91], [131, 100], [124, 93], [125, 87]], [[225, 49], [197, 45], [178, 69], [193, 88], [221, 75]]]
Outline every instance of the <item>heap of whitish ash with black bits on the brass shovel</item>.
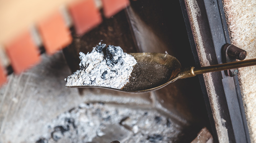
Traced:
[[79, 53], [81, 62], [77, 70], [66, 79], [66, 86], [100, 86], [121, 89], [129, 82], [137, 61], [124, 53], [121, 47], [97, 45], [91, 53]]

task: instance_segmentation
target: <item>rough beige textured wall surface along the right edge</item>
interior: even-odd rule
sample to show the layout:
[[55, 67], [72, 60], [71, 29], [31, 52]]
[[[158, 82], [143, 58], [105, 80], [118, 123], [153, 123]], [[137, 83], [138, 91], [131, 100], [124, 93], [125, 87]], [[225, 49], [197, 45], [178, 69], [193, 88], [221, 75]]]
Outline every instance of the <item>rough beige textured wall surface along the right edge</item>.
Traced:
[[[256, 58], [255, 0], [223, 0], [231, 43], [247, 52], [245, 59]], [[239, 82], [251, 142], [256, 142], [256, 66], [239, 69]]]

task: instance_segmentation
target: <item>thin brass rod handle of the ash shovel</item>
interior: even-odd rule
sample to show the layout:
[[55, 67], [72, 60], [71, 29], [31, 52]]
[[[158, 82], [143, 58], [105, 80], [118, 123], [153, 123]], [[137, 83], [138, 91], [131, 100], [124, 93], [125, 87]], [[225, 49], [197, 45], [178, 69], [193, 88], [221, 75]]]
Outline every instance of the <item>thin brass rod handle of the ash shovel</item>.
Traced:
[[256, 58], [243, 60], [243, 61], [224, 63], [219, 65], [213, 65], [213, 66], [194, 68], [194, 74], [197, 75], [197, 74], [203, 74], [203, 73], [214, 72], [214, 71], [224, 71], [224, 70], [237, 69], [237, 68], [254, 66], [254, 65], [256, 65]]

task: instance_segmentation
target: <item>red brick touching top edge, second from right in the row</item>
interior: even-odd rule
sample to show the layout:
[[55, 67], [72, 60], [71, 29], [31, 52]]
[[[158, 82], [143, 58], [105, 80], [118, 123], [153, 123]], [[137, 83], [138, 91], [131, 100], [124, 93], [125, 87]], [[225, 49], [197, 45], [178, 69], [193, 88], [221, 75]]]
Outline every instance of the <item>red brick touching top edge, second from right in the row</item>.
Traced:
[[76, 34], [82, 35], [101, 23], [102, 18], [94, 0], [80, 0], [69, 6]]

